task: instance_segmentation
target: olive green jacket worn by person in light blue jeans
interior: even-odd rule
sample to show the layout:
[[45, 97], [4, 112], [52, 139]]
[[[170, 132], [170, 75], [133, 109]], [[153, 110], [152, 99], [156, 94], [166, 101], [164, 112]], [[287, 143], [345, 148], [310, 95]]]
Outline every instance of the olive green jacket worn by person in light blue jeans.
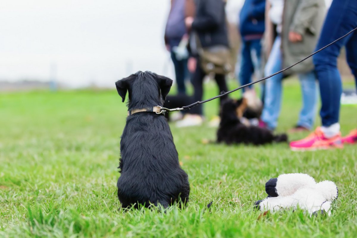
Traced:
[[[315, 51], [325, 15], [325, 0], [285, 0], [281, 32], [283, 69]], [[270, 29], [273, 28], [270, 27]], [[290, 31], [301, 34], [302, 41], [296, 43], [289, 41]], [[266, 37], [274, 35], [273, 32], [271, 36], [269, 36], [269, 32], [266, 33]], [[270, 41], [272, 42], [271, 39]], [[285, 74], [305, 73], [313, 69], [311, 57], [285, 71]]]

